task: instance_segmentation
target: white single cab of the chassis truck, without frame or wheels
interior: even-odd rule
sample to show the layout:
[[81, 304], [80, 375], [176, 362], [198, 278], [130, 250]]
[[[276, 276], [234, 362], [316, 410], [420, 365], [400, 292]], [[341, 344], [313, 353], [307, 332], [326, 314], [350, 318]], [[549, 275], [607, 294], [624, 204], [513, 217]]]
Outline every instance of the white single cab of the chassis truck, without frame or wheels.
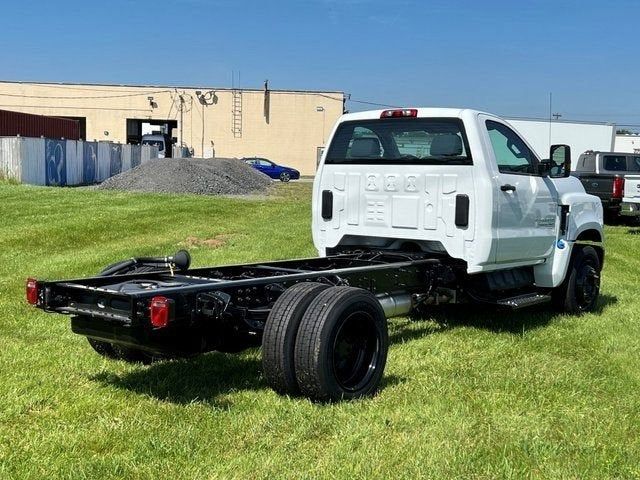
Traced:
[[600, 200], [569, 159], [567, 146], [539, 159], [508, 122], [475, 110], [343, 115], [315, 179], [315, 246], [430, 252], [469, 275], [526, 267], [536, 286], [557, 287], [575, 242], [603, 240]]

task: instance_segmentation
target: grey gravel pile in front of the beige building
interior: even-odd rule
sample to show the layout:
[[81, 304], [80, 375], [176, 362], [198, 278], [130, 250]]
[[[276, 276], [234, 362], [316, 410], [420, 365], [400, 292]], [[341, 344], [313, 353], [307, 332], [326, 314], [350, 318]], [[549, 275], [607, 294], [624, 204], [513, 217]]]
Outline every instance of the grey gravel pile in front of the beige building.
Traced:
[[156, 193], [247, 195], [271, 179], [235, 158], [160, 158], [115, 175], [98, 188]]

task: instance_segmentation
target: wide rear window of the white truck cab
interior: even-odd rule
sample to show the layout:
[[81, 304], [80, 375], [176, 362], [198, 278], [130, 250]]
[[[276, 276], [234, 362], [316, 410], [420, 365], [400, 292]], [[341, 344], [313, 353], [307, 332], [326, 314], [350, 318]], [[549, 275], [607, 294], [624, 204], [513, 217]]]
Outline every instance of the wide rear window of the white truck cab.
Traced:
[[392, 118], [341, 124], [325, 163], [470, 165], [471, 155], [460, 119]]

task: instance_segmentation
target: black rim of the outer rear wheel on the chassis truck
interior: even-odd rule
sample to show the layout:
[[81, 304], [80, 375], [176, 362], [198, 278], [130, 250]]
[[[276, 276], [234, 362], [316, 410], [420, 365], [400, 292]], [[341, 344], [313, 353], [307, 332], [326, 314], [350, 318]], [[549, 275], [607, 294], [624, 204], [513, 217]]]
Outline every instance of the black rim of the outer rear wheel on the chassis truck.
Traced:
[[373, 376], [378, 366], [380, 341], [371, 315], [356, 312], [338, 328], [333, 342], [333, 373], [347, 391], [358, 391]]

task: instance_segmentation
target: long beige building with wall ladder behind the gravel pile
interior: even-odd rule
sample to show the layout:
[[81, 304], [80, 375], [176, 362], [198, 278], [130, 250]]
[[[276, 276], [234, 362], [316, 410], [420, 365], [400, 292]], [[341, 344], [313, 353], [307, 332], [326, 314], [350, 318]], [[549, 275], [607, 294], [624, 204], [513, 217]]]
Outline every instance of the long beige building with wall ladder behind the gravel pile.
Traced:
[[68, 117], [86, 140], [166, 131], [195, 156], [261, 156], [312, 175], [343, 92], [0, 82], [0, 109]]

